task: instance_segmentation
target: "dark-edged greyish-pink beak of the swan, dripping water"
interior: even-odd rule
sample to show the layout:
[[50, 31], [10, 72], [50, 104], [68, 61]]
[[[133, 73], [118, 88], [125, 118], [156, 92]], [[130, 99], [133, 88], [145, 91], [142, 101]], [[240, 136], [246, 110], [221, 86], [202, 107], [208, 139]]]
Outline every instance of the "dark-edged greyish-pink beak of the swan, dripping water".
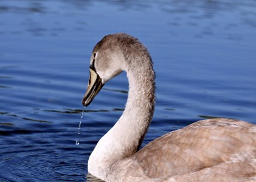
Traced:
[[83, 96], [82, 104], [83, 106], [87, 107], [89, 104], [91, 104], [94, 97], [97, 95], [97, 93], [100, 92], [100, 89], [104, 84], [102, 83], [102, 78], [95, 72], [95, 70], [90, 68], [90, 78], [88, 82], [88, 87], [85, 92], [85, 96]]

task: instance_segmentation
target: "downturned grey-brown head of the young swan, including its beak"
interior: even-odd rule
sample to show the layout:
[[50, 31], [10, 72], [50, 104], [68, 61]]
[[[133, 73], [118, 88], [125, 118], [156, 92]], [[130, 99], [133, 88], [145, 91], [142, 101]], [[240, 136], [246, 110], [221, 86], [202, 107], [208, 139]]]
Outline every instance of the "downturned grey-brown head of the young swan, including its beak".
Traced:
[[125, 34], [107, 35], [95, 45], [90, 60], [88, 87], [82, 100], [83, 106], [89, 106], [104, 84], [125, 70], [120, 35]]

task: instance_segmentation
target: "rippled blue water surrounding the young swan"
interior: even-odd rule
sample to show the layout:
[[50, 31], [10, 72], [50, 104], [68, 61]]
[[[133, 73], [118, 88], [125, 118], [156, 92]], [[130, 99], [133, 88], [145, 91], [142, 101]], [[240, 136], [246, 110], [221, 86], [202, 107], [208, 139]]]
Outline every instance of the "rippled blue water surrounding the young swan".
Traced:
[[[136, 36], [151, 53], [156, 109], [143, 146], [212, 117], [256, 124], [256, 2], [0, 1], [0, 181], [85, 181], [125, 107], [125, 73], [83, 110], [94, 45]], [[75, 141], [80, 144], [76, 145]]]

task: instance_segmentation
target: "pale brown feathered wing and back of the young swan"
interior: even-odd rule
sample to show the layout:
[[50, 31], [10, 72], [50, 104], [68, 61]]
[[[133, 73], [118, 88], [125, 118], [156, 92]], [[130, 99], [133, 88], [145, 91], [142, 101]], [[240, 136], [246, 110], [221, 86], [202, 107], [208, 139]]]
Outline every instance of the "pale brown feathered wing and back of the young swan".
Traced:
[[256, 180], [256, 126], [228, 119], [198, 121], [157, 138], [131, 160], [153, 181], [229, 175]]

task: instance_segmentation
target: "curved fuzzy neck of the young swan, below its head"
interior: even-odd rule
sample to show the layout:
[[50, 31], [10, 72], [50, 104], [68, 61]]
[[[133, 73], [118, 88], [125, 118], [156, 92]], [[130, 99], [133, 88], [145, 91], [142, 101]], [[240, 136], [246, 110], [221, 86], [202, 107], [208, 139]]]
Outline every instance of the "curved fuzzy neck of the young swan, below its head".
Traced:
[[151, 122], [155, 101], [154, 71], [150, 56], [144, 59], [139, 60], [139, 64], [136, 60], [126, 61], [129, 92], [125, 110], [89, 158], [88, 170], [99, 177], [108, 175], [113, 163], [137, 151]]

